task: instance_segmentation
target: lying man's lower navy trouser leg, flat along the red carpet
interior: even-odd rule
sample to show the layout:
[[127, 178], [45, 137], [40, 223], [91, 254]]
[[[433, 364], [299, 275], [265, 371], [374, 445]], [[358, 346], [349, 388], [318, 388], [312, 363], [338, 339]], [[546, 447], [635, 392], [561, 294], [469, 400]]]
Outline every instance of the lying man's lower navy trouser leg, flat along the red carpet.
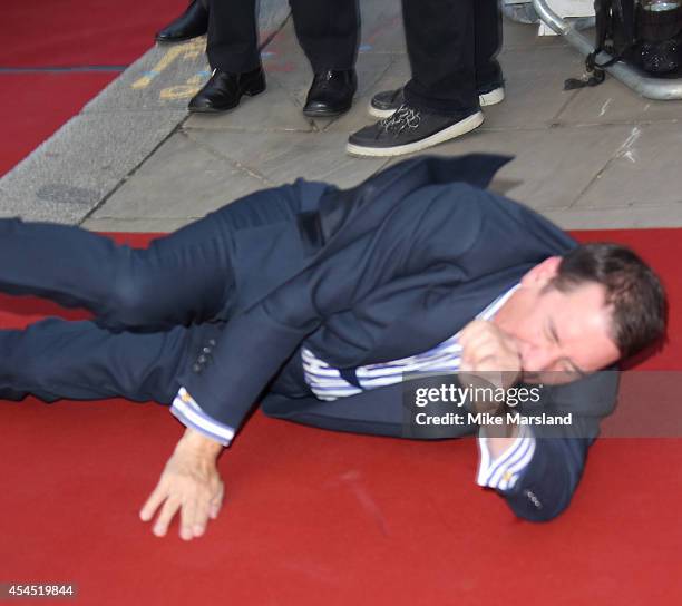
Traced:
[[1, 330], [0, 399], [123, 397], [170, 403], [194, 331], [176, 326], [163, 333], [111, 333], [94, 322], [58, 319]]

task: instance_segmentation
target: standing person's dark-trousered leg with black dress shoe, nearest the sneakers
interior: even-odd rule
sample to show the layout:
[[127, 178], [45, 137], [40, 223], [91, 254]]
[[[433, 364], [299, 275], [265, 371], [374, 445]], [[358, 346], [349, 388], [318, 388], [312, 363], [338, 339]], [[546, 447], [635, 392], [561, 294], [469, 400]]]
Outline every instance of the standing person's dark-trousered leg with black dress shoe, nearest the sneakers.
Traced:
[[348, 111], [358, 88], [358, 0], [290, 0], [296, 38], [313, 70], [303, 114], [333, 117]]

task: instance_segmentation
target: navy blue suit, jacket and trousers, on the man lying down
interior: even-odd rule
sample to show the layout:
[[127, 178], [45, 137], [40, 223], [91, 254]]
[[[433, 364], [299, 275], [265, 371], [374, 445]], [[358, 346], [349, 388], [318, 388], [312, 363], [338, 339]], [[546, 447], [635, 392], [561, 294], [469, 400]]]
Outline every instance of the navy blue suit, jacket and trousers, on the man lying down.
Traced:
[[[367, 433], [406, 436], [402, 385], [321, 402], [301, 375], [300, 348], [337, 368], [397, 360], [455, 334], [530, 267], [575, 246], [556, 226], [486, 192], [508, 158], [416, 158], [349, 190], [296, 182], [228, 205], [149, 251], [72, 227], [0, 222], [0, 289], [80, 304], [92, 322], [0, 331], [0, 393], [45, 400], [123, 395], [169, 403], [183, 385], [202, 410], [238, 428], [265, 413]], [[30, 246], [30, 251], [27, 251]], [[21, 254], [17, 254], [21, 253]], [[50, 257], [61, 255], [62, 264]], [[546, 410], [578, 420], [536, 431], [513, 490], [519, 516], [561, 512], [579, 479], [616, 379], [547, 390]]]

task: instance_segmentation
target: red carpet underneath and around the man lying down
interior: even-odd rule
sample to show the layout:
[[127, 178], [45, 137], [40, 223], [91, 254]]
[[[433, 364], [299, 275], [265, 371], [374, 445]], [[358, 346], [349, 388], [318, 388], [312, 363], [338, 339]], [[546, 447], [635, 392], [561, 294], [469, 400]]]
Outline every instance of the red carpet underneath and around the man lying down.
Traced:
[[[673, 310], [682, 302], [680, 231], [579, 236], [632, 244], [666, 280]], [[2, 325], [53, 311], [2, 309]], [[647, 368], [682, 370], [671, 320], [673, 339]], [[166, 409], [2, 402], [0, 427], [0, 581], [72, 581], [80, 604], [682, 600], [681, 440], [602, 440], [568, 511], [533, 525], [474, 485], [472, 440], [334, 434], [256, 413], [221, 461], [220, 519], [185, 544], [176, 525], [157, 539], [137, 519], [182, 432]]]

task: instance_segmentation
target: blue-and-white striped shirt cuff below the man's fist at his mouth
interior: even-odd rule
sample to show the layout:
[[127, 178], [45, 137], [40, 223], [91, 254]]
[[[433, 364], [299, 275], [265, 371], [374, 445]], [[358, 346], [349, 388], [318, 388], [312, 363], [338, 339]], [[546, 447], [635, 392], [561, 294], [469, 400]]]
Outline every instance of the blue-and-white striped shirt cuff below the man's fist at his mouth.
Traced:
[[514, 443], [497, 459], [490, 454], [488, 440], [484, 436], [478, 438], [479, 463], [476, 483], [509, 490], [520, 478], [524, 469], [528, 467], [535, 453], [535, 437], [528, 426], [522, 426]]

